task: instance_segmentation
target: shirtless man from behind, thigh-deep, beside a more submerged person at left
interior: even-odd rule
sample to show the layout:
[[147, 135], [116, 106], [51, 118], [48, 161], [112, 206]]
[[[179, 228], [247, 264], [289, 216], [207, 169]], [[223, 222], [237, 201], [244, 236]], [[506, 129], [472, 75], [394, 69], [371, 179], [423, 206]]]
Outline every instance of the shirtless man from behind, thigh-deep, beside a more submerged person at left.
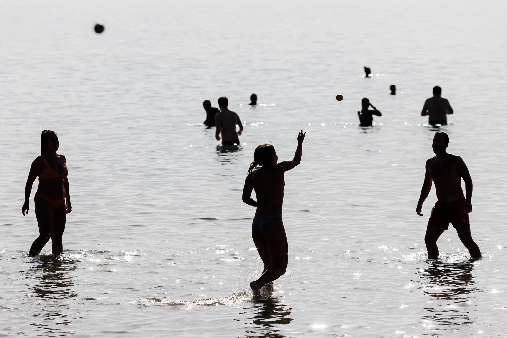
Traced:
[[[220, 133], [222, 133], [222, 144], [239, 144], [238, 136], [243, 131], [243, 124], [239, 116], [227, 108], [228, 104], [227, 97], [219, 98], [220, 112], [215, 115], [215, 138], [220, 141]], [[239, 126], [238, 132], [236, 132], [236, 125]]]

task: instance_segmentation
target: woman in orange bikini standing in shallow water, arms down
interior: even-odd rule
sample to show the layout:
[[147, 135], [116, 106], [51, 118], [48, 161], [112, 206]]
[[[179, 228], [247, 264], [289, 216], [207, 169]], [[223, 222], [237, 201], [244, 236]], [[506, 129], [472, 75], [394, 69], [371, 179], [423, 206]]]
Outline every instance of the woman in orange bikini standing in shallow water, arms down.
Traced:
[[[67, 161], [65, 156], [57, 154], [58, 136], [52, 130], [43, 130], [41, 134], [41, 156], [33, 160], [25, 185], [25, 203], [21, 212], [28, 213], [31, 187], [39, 175], [39, 187], [35, 193], [35, 217], [39, 223], [39, 237], [33, 241], [28, 253], [34, 256], [41, 252], [49, 241], [53, 243], [53, 254], [62, 249], [62, 235], [65, 230], [66, 214], [72, 211], [68, 191]], [[66, 200], [66, 205], [65, 205]]]

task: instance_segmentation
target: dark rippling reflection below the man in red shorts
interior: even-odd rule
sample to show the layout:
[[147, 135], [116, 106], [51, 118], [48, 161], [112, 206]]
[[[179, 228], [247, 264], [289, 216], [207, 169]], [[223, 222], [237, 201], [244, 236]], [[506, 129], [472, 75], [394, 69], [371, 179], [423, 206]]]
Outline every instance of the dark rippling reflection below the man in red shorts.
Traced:
[[475, 322], [477, 317], [470, 316], [475, 305], [469, 295], [481, 290], [475, 286], [473, 268], [473, 260], [453, 263], [428, 260], [427, 267], [418, 272], [425, 280], [421, 289], [431, 298], [424, 305], [426, 314], [422, 315], [426, 328], [450, 330]]

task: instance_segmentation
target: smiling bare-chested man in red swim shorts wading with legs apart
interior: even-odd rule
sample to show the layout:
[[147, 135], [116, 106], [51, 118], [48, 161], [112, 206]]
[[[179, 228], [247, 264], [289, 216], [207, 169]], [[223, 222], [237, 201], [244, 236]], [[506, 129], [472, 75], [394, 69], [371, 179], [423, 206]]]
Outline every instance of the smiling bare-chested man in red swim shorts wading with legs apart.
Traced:
[[[461, 243], [468, 249], [473, 258], [481, 257], [481, 250], [470, 234], [470, 219], [472, 212], [472, 178], [463, 160], [446, 152], [449, 136], [441, 131], [433, 137], [433, 153], [435, 157], [426, 161], [426, 174], [421, 189], [421, 197], [415, 211], [422, 216], [422, 204], [431, 190], [431, 181], [435, 182], [437, 203], [431, 209], [424, 242], [429, 259], [437, 259], [439, 248], [437, 240], [449, 228], [449, 222], [456, 229]], [[461, 178], [465, 181], [466, 198], [461, 189]]]

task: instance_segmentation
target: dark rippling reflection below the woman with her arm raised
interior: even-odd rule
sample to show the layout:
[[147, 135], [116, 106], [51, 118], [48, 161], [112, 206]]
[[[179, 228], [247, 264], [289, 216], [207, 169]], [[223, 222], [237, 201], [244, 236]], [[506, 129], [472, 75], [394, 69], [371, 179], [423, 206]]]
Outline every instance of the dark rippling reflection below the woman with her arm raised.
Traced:
[[276, 297], [267, 297], [256, 301], [249, 309], [253, 310], [255, 317], [247, 318], [252, 320], [252, 322], [246, 324], [253, 326], [246, 327], [245, 337], [285, 337], [281, 332], [281, 327], [295, 320], [288, 317], [291, 315], [292, 309], [288, 308], [286, 304], [281, 304], [280, 300]]

